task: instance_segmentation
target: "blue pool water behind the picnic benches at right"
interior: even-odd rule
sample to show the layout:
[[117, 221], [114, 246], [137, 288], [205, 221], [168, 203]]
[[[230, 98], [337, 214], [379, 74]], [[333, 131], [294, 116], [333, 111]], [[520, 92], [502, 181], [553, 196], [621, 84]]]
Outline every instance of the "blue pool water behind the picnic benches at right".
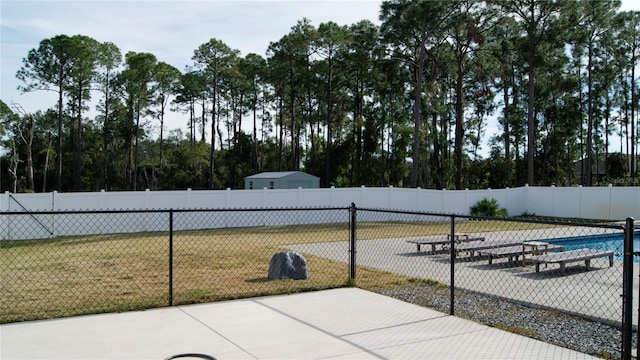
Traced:
[[[583, 248], [611, 250], [614, 253], [614, 259], [617, 261], [622, 261], [622, 253], [624, 250], [623, 242], [622, 234], [588, 235], [549, 239], [549, 243], [564, 245], [565, 251]], [[633, 248], [634, 251], [640, 251], [640, 232], [634, 233]], [[637, 256], [633, 257], [633, 261], [638, 262], [638, 260]]]

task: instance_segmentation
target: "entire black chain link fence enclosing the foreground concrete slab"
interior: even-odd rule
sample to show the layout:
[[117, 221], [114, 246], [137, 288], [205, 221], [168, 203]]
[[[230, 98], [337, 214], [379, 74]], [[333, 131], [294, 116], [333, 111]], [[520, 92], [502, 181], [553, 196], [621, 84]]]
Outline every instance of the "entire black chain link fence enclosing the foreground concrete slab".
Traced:
[[[638, 323], [638, 296], [626, 306], [631, 297], [621, 297], [625, 223], [355, 206], [0, 216], [0, 323], [352, 285], [472, 318], [465, 312], [487, 306], [482, 297], [620, 328]], [[267, 278], [283, 251], [304, 256], [308, 279]], [[637, 271], [637, 262], [628, 267]], [[495, 311], [487, 313], [511, 316]]]

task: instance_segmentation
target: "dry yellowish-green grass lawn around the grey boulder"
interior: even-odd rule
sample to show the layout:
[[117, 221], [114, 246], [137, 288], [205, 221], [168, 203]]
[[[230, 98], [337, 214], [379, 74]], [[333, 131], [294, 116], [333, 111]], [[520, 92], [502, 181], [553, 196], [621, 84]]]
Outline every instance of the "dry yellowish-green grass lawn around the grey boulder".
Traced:
[[[546, 225], [548, 227], [549, 225]], [[541, 227], [492, 221], [457, 232]], [[447, 234], [443, 223], [358, 223], [357, 239]], [[173, 303], [236, 299], [352, 285], [348, 257], [305, 255], [307, 280], [269, 280], [273, 254], [286, 245], [349, 240], [348, 224], [180, 231], [173, 236]], [[169, 305], [169, 234], [137, 233], [0, 241], [0, 323]], [[357, 286], [413, 282], [358, 267]]]

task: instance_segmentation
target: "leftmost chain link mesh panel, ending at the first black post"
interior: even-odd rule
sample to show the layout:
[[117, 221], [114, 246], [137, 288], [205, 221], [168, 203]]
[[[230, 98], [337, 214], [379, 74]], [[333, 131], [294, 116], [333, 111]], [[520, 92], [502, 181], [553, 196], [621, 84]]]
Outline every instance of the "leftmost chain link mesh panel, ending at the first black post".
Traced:
[[[0, 241], [1, 321], [166, 305], [167, 217], [122, 215], [7, 214], [20, 239]], [[164, 231], [121, 232], [141, 223]]]

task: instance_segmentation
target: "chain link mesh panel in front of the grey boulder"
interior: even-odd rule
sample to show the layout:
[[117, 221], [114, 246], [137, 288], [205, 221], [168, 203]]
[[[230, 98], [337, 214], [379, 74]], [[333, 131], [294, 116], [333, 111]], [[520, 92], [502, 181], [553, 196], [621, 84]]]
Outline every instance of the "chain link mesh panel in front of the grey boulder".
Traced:
[[346, 257], [334, 261], [323, 252], [303, 255], [307, 280], [267, 278], [271, 258], [293, 244], [347, 241], [346, 209], [180, 212], [174, 220], [200, 228], [174, 235], [175, 304], [327, 289], [347, 281]]

